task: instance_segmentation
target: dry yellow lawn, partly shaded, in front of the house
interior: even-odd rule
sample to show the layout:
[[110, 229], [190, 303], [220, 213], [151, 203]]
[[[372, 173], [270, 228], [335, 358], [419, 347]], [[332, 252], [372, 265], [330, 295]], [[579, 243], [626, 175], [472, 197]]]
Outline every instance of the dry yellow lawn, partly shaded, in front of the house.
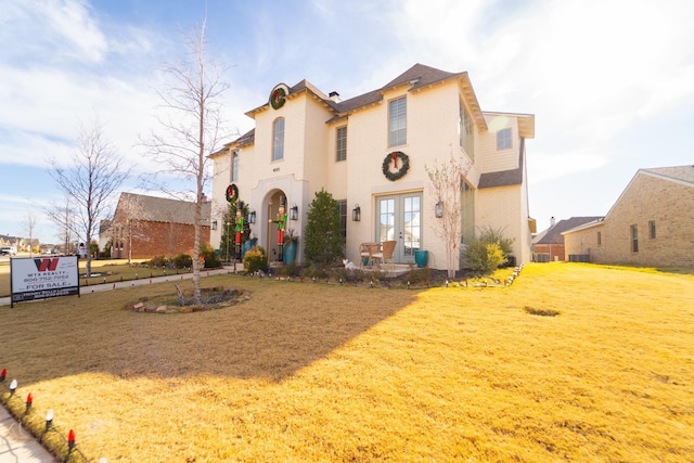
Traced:
[[2, 307], [0, 368], [92, 460], [694, 460], [693, 275], [545, 263], [507, 288], [204, 285], [222, 281], [252, 299], [123, 310], [167, 284]]

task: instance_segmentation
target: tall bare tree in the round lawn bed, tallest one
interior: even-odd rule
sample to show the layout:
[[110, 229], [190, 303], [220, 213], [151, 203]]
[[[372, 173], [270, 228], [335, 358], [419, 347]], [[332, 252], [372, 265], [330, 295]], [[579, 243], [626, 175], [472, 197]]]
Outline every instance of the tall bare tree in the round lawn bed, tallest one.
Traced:
[[[153, 133], [143, 142], [150, 155], [162, 166], [164, 176], [194, 182], [195, 215], [193, 244], [194, 298], [200, 303], [201, 226], [205, 202], [204, 189], [209, 181], [208, 156], [221, 142], [221, 95], [229, 88], [222, 81], [223, 67], [205, 55], [205, 22], [187, 36], [188, 55], [181, 62], [165, 65], [169, 81], [159, 91], [165, 116], [158, 117], [163, 134]], [[162, 183], [166, 193], [182, 198]]]

